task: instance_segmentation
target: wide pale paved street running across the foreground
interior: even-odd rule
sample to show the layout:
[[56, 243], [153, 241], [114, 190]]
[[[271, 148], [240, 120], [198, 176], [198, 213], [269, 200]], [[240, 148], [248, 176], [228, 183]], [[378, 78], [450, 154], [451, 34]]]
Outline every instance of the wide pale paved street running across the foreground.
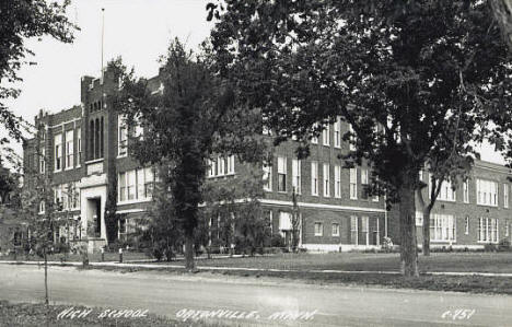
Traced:
[[[0, 299], [44, 299], [44, 270], [37, 266], [0, 265]], [[176, 317], [184, 310], [257, 312], [255, 318], [221, 318], [222, 324], [287, 326], [512, 326], [512, 296], [360, 287], [313, 285], [256, 278], [158, 271], [120, 273], [50, 267], [50, 301], [106, 308], [148, 308]], [[280, 312], [317, 313], [289, 320]], [[452, 319], [470, 310], [469, 319]], [[450, 311], [450, 313], [446, 313]], [[466, 313], [470, 313], [469, 311]], [[269, 319], [272, 315], [275, 319]], [[235, 315], [236, 316], [236, 315]], [[210, 318], [218, 319], [218, 318]]]

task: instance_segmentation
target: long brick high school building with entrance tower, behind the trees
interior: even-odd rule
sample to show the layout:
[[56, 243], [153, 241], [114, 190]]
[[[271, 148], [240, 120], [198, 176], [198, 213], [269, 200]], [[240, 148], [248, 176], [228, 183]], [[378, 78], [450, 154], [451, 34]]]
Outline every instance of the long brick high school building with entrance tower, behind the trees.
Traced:
[[[158, 77], [149, 84], [154, 93], [161, 92]], [[59, 214], [67, 223], [56, 232], [56, 238], [88, 240], [90, 250], [129, 233], [130, 222], [146, 214], [151, 202], [153, 170], [127, 155], [127, 135], [142, 130], [127, 128], [112, 109], [108, 94], [117, 90], [118, 82], [109, 71], [103, 80], [83, 77], [81, 104], [56, 114], [42, 112], [35, 117], [40, 144], [33, 139], [24, 148], [25, 172], [51, 174], [56, 199], [63, 203]], [[294, 189], [302, 247], [349, 250], [379, 247], [386, 235], [397, 240], [394, 211], [385, 210], [383, 197], [366, 195], [369, 168], [347, 170], [338, 159], [349, 151], [349, 143], [342, 140], [347, 128], [341, 121], [328, 126], [318, 139], [312, 140], [306, 160], [295, 159], [293, 141], [275, 149], [272, 164], [264, 166], [267, 178], [260, 199], [274, 234], [290, 240]], [[46, 161], [36, 153], [37, 147]], [[207, 176], [236, 178], [246, 171], [232, 156], [212, 161]], [[449, 184], [443, 185], [432, 210], [432, 244], [475, 247], [510, 238], [509, 176], [503, 166], [478, 162], [463, 189], [452, 191]], [[427, 176], [422, 178], [428, 180]], [[26, 185], [31, 185], [30, 176]], [[116, 212], [121, 215], [118, 235], [107, 235], [107, 201], [115, 201]], [[44, 210], [42, 203], [39, 211]], [[421, 244], [420, 214], [417, 223]]]

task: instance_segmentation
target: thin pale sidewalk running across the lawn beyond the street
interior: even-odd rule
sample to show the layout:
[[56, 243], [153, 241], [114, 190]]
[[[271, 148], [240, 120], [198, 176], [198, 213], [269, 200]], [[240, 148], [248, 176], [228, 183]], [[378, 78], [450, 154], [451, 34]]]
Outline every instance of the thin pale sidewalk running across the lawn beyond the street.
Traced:
[[[42, 261], [14, 261], [14, 260], [0, 260], [0, 264], [4, 265], [43, 265]], [[48, 261], [49, 266], [73, 266], [73, 267], [81, 267], [82, 262], [75, 261]], [[102, 267], [115, 267], [115, 268], [144, 268], [144, 269], [185, 269], [182, 265], [173, 265], [173, 264], [140, 264], [138, 262], [117, 262], [117, 261], [104, 261], [104, 262], [89, 262], [90, 266], [94, 268], [102, 268]], [[214, 266], [197, 266], [199, 271], [222, 271], [222, 270], [230, 270], [230, 271], [269, 271], [269, 272], [311, 272], [311, 273], [361, 273], [361, 275], [399, 275], [398, 270], [387, 270], [387, 271], [372, 271], [372, 270], [292, 270], [292, 269], [261, 269], [261, 268], [245, 268], [245, 267], [214, 267]], [[427, 271], [424, 275], [432, 275], [432, 276], [482, 276], [482, 277], [510, 277], [512, 278], [512, 273], [494, 273], [494, 272], [458, 272], [458, 271]]]

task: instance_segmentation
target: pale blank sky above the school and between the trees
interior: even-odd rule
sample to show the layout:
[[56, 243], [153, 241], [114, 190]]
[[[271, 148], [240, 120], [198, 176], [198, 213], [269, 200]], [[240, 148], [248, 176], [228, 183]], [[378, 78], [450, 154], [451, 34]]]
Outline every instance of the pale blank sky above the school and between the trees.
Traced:
[[[104, 65], [120, 56], [141, 77], [158, 73], [160, 56], [170, 40], [178, 37], [191, 49], [209, 35], [208, 0], [73, 0], [68, 17], [81, 30], [72, 44], [49, 37], [30, 39], [36, 66], [24, 66], [19, 75], [21, 95], [8, 102], [10, 108], [30, 122], [39, 109], [57, 113], [80, 104], [82, 75], [100, 77], [102, 65], [102, 8], [104, 12]], [[21, 145], [13, 144], [21, 154]], [[503, 159], [484, 144], [481, 159], [503, 163]]]

